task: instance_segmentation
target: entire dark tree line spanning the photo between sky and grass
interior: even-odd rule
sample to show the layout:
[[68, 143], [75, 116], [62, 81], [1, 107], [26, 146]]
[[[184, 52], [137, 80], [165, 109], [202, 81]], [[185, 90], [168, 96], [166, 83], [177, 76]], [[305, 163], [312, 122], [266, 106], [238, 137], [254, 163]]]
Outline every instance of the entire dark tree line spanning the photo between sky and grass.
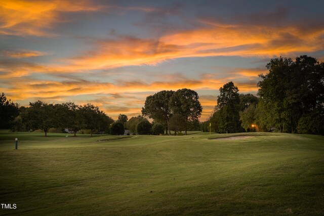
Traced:
[[[142, 115], [124, 114], [114, 121], [97, 106], [68, 102], [46, 104], [36, 101], [29, 107], [0, 95], [0, 128], [26, 131], [41, 128], [71, 128], [75, 133], [87, 128], [94, 132], [124, 134], [167, 134], [205, 131], [239, 133], [272, 131], [324, 135], [324, 63], [306, 55], [271, 59], [269, 70], [260, 74], [258, 93], [239, 94], [233, 82], [219, 89], [217, 105], [205, 122], [199, 122], [203, 108], [198, 94], [190, 89], [160, 91], [146, 98]], [[153, 120], [152, 123], [147, 118]], [[211, 125], [211, 127], [210, 127]]]

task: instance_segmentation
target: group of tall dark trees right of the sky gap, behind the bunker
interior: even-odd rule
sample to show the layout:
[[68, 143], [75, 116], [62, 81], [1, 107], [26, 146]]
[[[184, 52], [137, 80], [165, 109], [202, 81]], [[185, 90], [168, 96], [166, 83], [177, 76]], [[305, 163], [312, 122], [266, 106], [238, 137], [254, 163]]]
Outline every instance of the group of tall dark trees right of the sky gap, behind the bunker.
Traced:
[[324, 63], [306, 55], [271, 59], [260, 74], [257, 97], [239, 94], [233, 82], [220, 88], [203, 131], [271, 131], [324, 135]]

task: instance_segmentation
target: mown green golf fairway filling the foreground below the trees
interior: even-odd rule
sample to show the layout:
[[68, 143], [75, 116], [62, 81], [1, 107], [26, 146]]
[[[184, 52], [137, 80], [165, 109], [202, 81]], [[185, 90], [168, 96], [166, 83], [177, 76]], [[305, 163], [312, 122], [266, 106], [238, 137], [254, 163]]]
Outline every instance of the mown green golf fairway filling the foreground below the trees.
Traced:
[[0, 134], [0, 214], [324, 214], [324, 137], [43, 136]]

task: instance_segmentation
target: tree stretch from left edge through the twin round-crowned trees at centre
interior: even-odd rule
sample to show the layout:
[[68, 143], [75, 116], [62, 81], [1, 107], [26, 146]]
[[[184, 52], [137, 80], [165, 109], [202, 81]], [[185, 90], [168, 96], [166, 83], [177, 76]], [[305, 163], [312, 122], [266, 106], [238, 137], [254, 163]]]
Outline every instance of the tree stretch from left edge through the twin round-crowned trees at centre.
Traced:
[[[76, 105], [68, 102], [62, 104], [47, 104], [43, 101], [30, 102], [24, 107], [7, 100], [4, 93], [0, 103], [1, 128], [11, 128], [12, 131], [34, 131], [41, 129], [45, 136], [50, 128], [65, 128], [76, 133], [81, 129], [88, 129], [93, 133], [123, 135], [125, 129], [129, 134], [159, 135], [171, 134], [188, 129], [199, 129], [198, 118], [202, 107], [195, 91], [182, 89], [161, 91], [148, 96], [142, 108], [142, 115], [128, 119], [127, 115], [119, 114], [114, 121], [99, 107], [93, 104]], [[150, 123], [147, 118], [152, 118]]]

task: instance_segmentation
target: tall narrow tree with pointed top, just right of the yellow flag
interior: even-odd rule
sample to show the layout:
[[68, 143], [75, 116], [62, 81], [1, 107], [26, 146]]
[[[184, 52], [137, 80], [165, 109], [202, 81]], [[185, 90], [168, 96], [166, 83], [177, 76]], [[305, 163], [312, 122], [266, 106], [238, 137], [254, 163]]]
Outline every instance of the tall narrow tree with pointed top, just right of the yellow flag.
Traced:
[[228, 82], [219, 89], [215, 119], [218, 131], [221, 133], [241, 132], [239, 121], [239, 94], [233, 82]]

